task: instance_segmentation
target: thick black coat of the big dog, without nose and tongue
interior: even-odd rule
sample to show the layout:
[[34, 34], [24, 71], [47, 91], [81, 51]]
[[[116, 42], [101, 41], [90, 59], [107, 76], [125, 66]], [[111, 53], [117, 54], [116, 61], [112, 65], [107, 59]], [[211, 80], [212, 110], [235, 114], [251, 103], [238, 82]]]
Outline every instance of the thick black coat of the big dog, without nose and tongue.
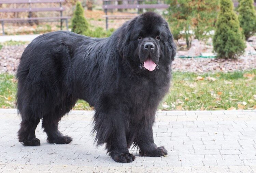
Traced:
[[[144, 48], [152, 42], [152, 50]], [[123, 24], [108, 38], [58, 31], [35, 38], [25, 49], [17, 71], [17, 108], [22, 116], [18, 139], [40, 145], [40, 119], [49, 143], [70, 143], [58, 122], [77, 99], [95, 107], [97, 144], [106, 143], [117, 162], [132, 162], [132, 144], [142, 156], [167, 154], [154, 143], [157, 106], [169, 90], [176, 47], [167, 22], [148, 12]], [[153, 71], [143, 63], [151, 58]]]

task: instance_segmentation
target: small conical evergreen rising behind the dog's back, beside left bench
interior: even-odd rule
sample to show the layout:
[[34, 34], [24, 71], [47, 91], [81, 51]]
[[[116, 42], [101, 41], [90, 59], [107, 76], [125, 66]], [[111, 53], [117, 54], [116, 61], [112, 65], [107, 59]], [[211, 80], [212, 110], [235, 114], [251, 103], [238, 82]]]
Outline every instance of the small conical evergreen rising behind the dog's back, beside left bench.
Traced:
[[84, 8], [79, 1], [76, 3], [75, 11], [71, 20], [71, 27], [71, 31], [77, 34], [84, 34], [89, 27], [89, 24], [84, 17]]

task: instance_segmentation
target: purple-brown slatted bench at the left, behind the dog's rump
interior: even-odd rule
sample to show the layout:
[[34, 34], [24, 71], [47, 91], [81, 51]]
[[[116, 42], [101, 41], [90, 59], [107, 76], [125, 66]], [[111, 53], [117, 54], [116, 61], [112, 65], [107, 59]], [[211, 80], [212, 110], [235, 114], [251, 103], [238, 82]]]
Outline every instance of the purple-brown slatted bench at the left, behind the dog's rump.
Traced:
[[[70, 16], [62, 16], [62, 12], [65, 11], [65, 7], [62, 7], [62, 4], [65, 0], [0, 0], [1, 4], [29, 4], [28, 8], [1, 8], [0, 13], [19, 13], [19, 12], [51, 12], [57, 11], [60, 12], [60, 16], [54, 17], [28, 17], [28, 18], [1, 18], [0, 22], [2, 23], [2, 30], [4, 35], [4, 23], [6, 22], [17, 22], [17, 21], [25, 21], [31, 22], [34, 20], [40, 21], [57, 21], [60, 20], [60, 29], [62, 30], [62, 20], [66, 20], [66, 27], [68, 30], [68, 19]], [[59, 7], [31, 7], [31, 4], [36, 3], [59, 3]]]

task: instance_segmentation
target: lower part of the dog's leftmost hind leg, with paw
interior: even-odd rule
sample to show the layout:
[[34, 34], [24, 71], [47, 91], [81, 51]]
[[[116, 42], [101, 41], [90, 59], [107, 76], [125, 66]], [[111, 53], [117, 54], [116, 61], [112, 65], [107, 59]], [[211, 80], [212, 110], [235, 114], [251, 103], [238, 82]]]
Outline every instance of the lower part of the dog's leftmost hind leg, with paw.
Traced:
[[25, 146], [38, 146], [40, 140], [35, 138], [35, 128], [39, 123], [39, 118], [23, 118], [18, 131], [18, 139]]

